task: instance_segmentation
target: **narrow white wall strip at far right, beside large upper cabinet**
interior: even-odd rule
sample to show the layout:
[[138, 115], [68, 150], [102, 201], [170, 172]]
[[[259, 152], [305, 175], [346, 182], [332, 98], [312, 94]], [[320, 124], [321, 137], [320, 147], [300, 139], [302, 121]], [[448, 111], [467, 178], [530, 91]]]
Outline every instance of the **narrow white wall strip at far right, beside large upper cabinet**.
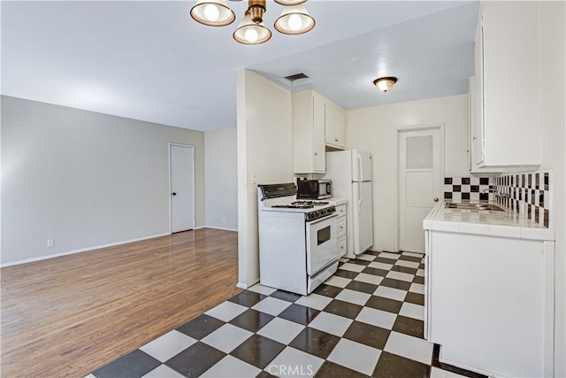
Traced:
[[555, 376], [566, 376], [566, 3], [540, 2], [542, 169], [552, 169], [555, 228]]

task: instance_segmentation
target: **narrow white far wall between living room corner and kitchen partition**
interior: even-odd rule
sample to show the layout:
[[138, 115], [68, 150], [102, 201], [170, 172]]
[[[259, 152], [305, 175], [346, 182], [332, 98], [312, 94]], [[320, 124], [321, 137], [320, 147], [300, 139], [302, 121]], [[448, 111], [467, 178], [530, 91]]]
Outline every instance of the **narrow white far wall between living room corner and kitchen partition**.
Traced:
[[236, 127], [204, 133], [204, 188], [207, 228], [238, 229]]

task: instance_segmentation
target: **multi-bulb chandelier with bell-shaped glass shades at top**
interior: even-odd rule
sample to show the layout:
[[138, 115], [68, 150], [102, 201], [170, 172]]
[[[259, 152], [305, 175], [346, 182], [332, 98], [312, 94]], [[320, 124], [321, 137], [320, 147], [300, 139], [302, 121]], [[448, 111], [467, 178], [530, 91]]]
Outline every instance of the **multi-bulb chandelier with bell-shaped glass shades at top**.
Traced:
[[[315, 19], [301, 5], [306, 1], [275, 0], [277, 4], [285, 5], [283, 12], [275, 21], [275, 29], [279, 33], [301, 35], [315, 27]], [[265, 12], [266, 0], [248, 0], [248, 10], [233, 32], [233, 39], [244, 44], [259, 44], [269, 40], [272, 32], [264, 26]], [[190, 13], [195, 21], [211, 27], [224, 27], [235, 19], [235, 14], [226, 4], [226, 0], [198, 0]]]

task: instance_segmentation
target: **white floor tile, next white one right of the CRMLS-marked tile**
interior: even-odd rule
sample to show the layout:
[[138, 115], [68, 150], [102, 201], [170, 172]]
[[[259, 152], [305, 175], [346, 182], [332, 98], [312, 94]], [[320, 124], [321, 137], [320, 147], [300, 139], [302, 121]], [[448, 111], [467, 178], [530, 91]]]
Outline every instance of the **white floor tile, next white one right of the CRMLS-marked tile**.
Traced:
[[357, 372], [371, 375], [378, 363], [380, 354], [379, 349], [348, 339], [341, 339], [328, 356], [328, 360]]

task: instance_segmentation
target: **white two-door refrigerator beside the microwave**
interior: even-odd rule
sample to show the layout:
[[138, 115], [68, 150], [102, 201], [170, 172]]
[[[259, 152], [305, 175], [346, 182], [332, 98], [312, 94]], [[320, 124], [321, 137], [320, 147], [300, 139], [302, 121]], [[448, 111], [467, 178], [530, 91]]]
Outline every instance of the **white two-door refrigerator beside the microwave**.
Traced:
[[333, 181], [333, 197], [348, 200], [348, 258], [356, 258], [373, 245], [371, 169], [370, 152], [326, 152], [325, 179]]

